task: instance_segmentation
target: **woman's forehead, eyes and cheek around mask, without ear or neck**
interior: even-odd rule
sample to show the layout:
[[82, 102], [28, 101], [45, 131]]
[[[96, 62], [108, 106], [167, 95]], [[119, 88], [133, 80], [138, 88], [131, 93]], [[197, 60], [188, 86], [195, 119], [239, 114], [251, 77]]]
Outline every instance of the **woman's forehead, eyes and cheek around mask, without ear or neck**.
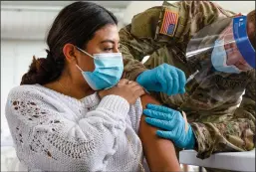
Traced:
[[[95, 33], [94, 38], [88, 42], [84, 51], [92, 56], [101, 53], [119, 53], [119, 42], [118, 27], [116, 25], [106, 25]], [[81, 51], [79, 51], [77, 61], [77, 65], [83, 71], [93, 72], [95, 70], [94, 59]]]

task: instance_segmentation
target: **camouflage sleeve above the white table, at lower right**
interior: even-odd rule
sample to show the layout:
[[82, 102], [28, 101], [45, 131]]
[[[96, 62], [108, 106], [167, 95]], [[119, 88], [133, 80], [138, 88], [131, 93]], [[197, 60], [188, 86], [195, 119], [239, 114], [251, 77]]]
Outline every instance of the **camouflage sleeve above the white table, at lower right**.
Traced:
[[255, 71], [248, 74], [242, 101], [230, 120], [191, 123], [197, 139], [197, 157], [203, 159], [214, 152], [248, 151], [255, 147]]

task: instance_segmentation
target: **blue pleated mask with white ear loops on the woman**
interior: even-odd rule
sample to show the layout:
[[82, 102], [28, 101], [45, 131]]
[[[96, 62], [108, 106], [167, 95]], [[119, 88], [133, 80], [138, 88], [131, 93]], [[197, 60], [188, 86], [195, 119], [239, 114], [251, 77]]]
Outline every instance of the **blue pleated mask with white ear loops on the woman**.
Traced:
[[77, 66], [89, 86], [94, 90], [99, 90], [115, 86], [119, 83], [124, 72], [124, 63], [121, 53], [103, 53], [94, 54], [94, 56], [92, 56], [78, 47], [77, 49], [94, 58], [95, 71], [93, 73], [84, 72]]

